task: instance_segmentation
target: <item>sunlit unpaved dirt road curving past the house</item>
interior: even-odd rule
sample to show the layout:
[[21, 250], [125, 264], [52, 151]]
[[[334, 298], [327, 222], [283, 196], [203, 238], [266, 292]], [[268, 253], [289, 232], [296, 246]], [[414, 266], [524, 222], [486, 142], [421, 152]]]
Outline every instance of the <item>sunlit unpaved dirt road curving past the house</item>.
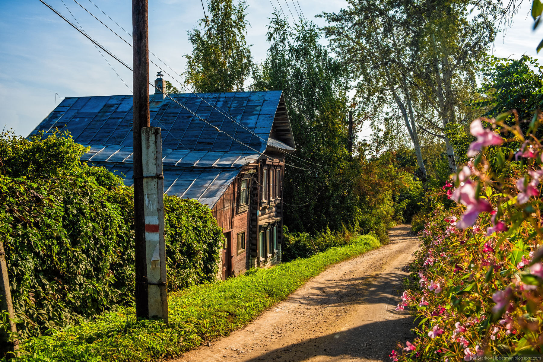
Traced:
[[409, 227], [394, 227], [389, 244], [331, 266], [247, 327], [175, 362], [389, 361], [397, 341], [413, 340], [412, 317], [395, 310], [418, 245]]

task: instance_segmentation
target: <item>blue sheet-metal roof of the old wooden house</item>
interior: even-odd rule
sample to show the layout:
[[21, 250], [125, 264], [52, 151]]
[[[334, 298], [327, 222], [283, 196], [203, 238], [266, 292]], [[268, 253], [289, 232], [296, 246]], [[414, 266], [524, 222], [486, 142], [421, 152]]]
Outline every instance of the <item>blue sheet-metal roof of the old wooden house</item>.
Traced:
[[[268, 144], [294, 150], [288, 116], [286, 143], [269, 141], [277, 107], [280, 102], [284, 107], [281, 91], [169, 96], [174, 100], [153, 101], [150, 96], [150, 124], [162, 129], [166, 194], [213, 207], [241, 167], [256, 161]], [[72, 97], [62, 100], [29, 136], [67, 129], [75, 142], [90, 146], [81, 161], [122, 175], [131, 186], [132, 122], [132, 96]], [[282, 124], [284, 129], [284, 116]]]

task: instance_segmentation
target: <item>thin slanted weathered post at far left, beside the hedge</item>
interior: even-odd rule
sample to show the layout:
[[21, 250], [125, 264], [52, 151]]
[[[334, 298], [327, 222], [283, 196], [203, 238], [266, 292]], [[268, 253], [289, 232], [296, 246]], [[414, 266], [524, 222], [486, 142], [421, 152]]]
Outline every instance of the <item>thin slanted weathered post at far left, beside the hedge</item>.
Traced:
[[[15, 313], [11, 302], [11, 290], [9, 289], [8, 265], [5, 263], [4, 243], [0, 241], [0, 312], [7, 310], [9, 313], [10, 332], [17, 333], [15, 326]], [[0, 330], [0, 358], [18, 357], [19, 341], [9, 340], [7, 331]]]

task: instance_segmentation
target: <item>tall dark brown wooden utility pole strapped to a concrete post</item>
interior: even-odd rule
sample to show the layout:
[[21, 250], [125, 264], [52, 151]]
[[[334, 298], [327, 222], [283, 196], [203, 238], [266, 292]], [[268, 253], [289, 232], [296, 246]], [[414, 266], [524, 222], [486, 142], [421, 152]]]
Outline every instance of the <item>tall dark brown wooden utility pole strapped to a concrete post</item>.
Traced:
[[143, 211], [141, 132], [149, 126], [149, 17], [147, 0], [132, 0], [132, 86], [134, 88], [134, 236], [136, 246], [136, 316], [149, 317], [147, 251]]

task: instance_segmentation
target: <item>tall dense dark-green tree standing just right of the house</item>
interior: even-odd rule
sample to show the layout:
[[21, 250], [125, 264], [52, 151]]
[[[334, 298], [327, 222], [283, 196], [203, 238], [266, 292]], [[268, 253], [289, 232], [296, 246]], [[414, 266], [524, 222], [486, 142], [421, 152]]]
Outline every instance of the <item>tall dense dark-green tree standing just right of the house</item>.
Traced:
[[298, 231], [352, 225], [357, 196], [347, 150], [349, 74], [320, 43], [320, 30], [302, 18], [289, 26], [281, 11], [270, 18], [267, 59], [255, 67], [254, 90], [283, 90], [299, 158], [287, 157], [286, 223]]

